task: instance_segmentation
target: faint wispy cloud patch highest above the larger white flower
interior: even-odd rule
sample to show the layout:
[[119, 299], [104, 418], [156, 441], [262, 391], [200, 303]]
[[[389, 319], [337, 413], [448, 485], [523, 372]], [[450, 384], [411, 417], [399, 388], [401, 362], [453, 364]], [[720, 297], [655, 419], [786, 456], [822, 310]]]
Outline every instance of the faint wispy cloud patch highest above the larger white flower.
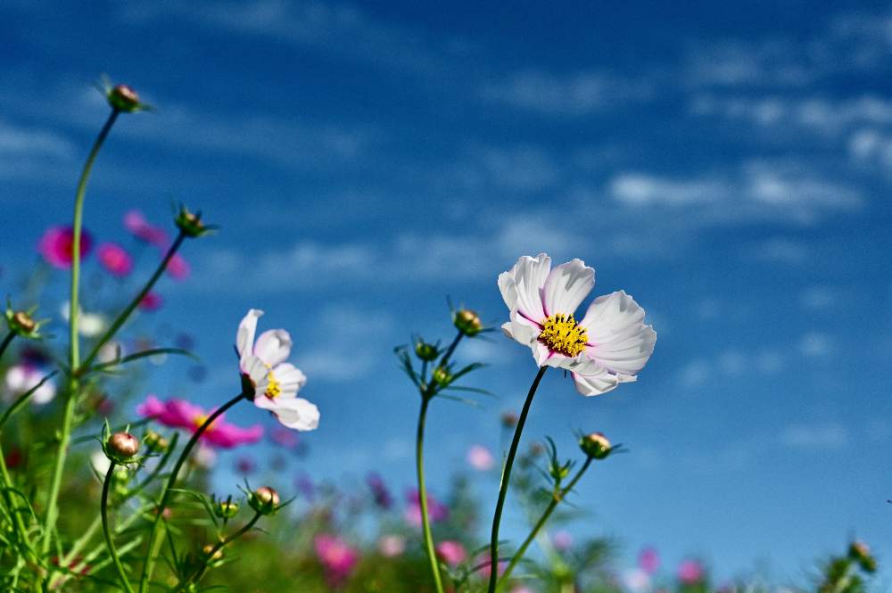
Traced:
[[603, 72], [577, 72], [559, 77], [527, 70], [483, 86], [483, 99], [549, 115], [579, 116], [615, 109], [652, 95], [647, 80], [619, 78]]

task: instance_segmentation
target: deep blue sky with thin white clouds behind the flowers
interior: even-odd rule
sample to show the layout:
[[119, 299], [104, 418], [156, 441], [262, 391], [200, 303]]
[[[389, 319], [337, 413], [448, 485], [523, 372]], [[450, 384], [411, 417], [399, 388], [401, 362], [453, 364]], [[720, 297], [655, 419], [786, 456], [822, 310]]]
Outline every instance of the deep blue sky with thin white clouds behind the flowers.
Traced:
[[[177, 199], [223, 228], [158, 314], [209, 380], [173, 363], [148, 388], [227, 398], [235, 325], [265, 309], [322, 410], [310, 474], [409, 486], [392, 346], [450, 336], [447, 294], [500, 324], [520, 255], [579, 257], [659, 337], [639, 383], [583, 399], [555, 374], [534, 404], [528, 439], [632, 449], [583, 482], [576, 531], [726, 576], [798, 580], [855, 534], [892, 556], [892, 15], [776, 4], [4, 3], [0, 289], [70, 217], [105, 72], [158, 111], [113, 130], [87, 226], [123, 242], [128, 209]], [[434, 406], [435, 490], [535, 373], [501, 337], [459, 358], [500, 400]]]

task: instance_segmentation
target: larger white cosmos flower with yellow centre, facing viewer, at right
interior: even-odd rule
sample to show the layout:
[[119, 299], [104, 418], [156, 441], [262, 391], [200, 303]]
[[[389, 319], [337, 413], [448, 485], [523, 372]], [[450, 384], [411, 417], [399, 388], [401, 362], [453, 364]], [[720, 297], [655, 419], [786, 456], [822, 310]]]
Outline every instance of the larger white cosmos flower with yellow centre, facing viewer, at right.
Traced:
[[657, 342], [644, 325], [644, 309], [624, 291], [600, 296], [578, 322], [576, 309], [595, 285], [595, 270], [582, 259], [551, 269], [551, 258], [518, 259], [499, 275], [499, 289], [511, 311], [502, 331], [533, 350], [540, 366], [573, 374], [582, 395], [599, 395], [635, 381]]

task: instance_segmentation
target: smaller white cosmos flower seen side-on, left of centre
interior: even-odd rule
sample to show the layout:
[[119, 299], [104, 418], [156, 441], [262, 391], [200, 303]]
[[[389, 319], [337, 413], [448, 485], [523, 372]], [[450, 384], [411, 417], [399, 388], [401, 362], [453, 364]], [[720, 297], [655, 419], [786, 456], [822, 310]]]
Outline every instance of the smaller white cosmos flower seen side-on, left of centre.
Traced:
[[239, 366], [256, 391], [254, 405], [272, 412], [288, 428], [311, 431], [319, 425], [319, 410], [306, 399], [296, 397], [307, 377], [285, 362], [291, 354], [291, 336], [284, 329], [270, 329], [254, 342], [261, 315], [260, 309], [248, 311], [235, 335]]

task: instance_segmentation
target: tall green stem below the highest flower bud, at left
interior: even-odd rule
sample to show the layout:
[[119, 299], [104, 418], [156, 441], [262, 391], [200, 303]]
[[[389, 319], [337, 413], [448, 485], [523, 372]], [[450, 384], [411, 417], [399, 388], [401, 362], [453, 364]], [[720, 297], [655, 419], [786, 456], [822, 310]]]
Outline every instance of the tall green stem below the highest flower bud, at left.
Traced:
[[77, 379], [78, 367], [80, 366], [78, 289], [80, 283], [80, 235], [84, 218], [84, 198], [87, 195], [87, 179], [90, 177], [90, 171], [93, 169], [96, 155], [99, 154], [99, 149], [102, 148], [106, 136], [108, 136], [111, 131], [111, 126], [113, 126], [115, 120], [118, 119], [119, 113], [120, 111], [112, 109], [109, 118], [105, 120], [105, 125], [99, 132], [99, 136], [96, 136], [93, 148], [87, 156], [87, 162], [84, 163], [84, 169], [80, 173], [78, 191], [74, 198], [74, 224], [71, 237], [71, 301], [69, 309], [69, 367], [71, 378], [68, 385], [68, 391], [65, 393], [65, 409], [62, 413], [62, 430], [60, 431], [59, 448], [56, 449], [55, 455], [53, 482], [50, 484], [49, 498], [46, 500], [44, 536], [41, 545], [41, 552], [44, 556], [49, 553], [52, 534], [55, 531], [55, 522], [59, 515], [57, 504], [59, 500], [59, 490], [62, 488], [62, 470], [65, 467], [65, 458], [68, 456], [71, 423], [74, 420], [74, 406], [78, 399], [78, 392], [80, 391], [80, 384]]

